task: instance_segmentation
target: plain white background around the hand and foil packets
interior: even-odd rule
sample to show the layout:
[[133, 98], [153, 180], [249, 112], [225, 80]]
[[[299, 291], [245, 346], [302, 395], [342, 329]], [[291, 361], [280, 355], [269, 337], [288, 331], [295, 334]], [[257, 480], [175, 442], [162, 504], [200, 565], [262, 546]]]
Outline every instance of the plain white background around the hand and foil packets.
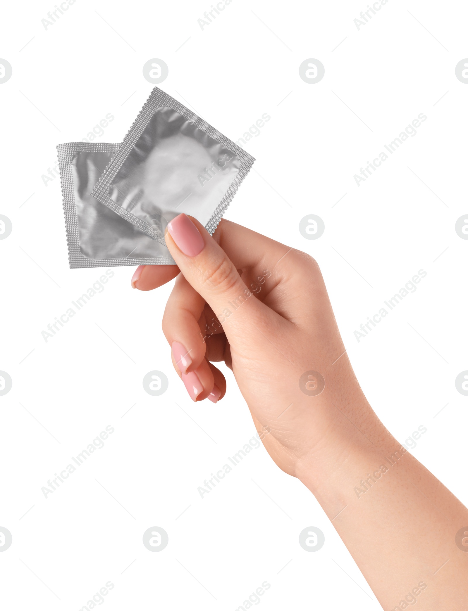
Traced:
[[[13, 67], [0, 85], [0, 213], [13, 224], [0, 241], [0, 369], [13, 379], [0, 397], [5, 609], [78, 610], [109, 580], [103, 604], [115, 610], [234, 610], [265, 580], [262, 609], [381, 609], [314, 497], [263, 447], [200, 498], [254, 426], [229, 370], [217, 405], [193, 404], [173, 372], [160, 328], [172, 283], [142, 293], [133, 268], [113, 268], [102, 293], [42, 338], [105, 271], [69, 269], [60, 181], [42, 175], [58, 142], [109, 112], [96, 141], [122, 141], [152, 89], [142, 74], [152, 57], [169, 67], [160, 87], [234, 141], [271, 116], [245, 146], [256, 163], [226, 218], [318, 260], [373, 408], [401, 442], [424, 425], [412, 452], [468, 503], [468, 398], [454, 383], [468, 369], [468, 241], [455, 233], [468, 212], [468, 86], [455, 77], [466, 5], [389, 0], [358, 30], [365, 1], [234, 0], [202, 30], [210, 4], [78, 0], [47, 29], [53, 1], [2, 9], [0, 57]], [[317, 84], [299, 77], [310, 57], [325, 66]], [[421, 112], [417, 136], [357, 186], [354, 174]], [[306, 214], [324, 220], [319, 240], [300, 235]], [[357, 342], [419, 269], [417, 291]], [[169, 378], [162, 397], [144, 392], [150, 370]], [[106, 425], [105, 447], [45, 499], [41, 487]], [[156, 554], [141, 540], [155, 525], [169, 535]], [[298, 543], [308, 526], [325, 533], [315, 553]], [[362, 536], [379, 533], [363, 524]]]

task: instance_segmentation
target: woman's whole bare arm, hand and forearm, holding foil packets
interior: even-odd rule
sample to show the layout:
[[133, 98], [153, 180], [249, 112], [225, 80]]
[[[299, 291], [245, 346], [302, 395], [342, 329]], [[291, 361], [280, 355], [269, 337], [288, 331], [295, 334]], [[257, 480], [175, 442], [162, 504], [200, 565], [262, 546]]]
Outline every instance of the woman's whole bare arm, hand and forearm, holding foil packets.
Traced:
[[[468, 609], [468, 510], [366, 400], [318, 264], [224, 220], [212, 238], [180, 215], [166, 244], [177, 265], [140, 267], [132, 285], [177, 276], [163, 331], [191, 398], [221, 400], [213, 363], [231, 368], [267, 452], [314, 494], [385, 610]], [[319, 395], [300, 387], [306, 371], [323, 376]]]

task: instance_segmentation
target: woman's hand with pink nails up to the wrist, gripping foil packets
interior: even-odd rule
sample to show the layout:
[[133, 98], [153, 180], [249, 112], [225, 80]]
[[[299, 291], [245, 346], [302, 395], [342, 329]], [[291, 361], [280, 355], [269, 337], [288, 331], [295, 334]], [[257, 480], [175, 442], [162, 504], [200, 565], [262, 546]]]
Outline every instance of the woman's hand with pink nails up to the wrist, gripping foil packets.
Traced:
[[[224, 360], [265, 447], [291, 475], [327, 452], [330, 431], [341, 431], [343, 442], [355, 437], [343, 414], [351, 402], [354, 421], [369, 408], [313, 258], [224, 220], [212, 238], [185, 214], [169, 223], [166, 243], [182, 273], [163, 331], [190, 397], [216, 403], [225, 395], [213, 365]], [[132, 282], [148, 290], [176, 273], [147, 266]]]

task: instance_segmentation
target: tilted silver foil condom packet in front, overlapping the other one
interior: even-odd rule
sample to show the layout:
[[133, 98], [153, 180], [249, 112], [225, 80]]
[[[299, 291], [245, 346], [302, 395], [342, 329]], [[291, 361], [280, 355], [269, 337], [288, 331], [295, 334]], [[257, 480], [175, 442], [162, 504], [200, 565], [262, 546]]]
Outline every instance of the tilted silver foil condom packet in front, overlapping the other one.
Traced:
[[158, 87], [128, 131], [92, 196], [165, 245], [182, 212], [212, 235], [254, 158]]

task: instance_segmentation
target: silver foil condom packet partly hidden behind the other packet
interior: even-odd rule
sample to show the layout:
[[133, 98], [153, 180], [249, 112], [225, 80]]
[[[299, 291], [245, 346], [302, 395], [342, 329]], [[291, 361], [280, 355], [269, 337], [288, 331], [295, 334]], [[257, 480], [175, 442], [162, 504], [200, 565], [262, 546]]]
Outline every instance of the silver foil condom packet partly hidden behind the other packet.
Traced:
[[70, 268], [175, 264], [164, 244], [91, 195], [120, 146], [104, 142], [57, 146]]

